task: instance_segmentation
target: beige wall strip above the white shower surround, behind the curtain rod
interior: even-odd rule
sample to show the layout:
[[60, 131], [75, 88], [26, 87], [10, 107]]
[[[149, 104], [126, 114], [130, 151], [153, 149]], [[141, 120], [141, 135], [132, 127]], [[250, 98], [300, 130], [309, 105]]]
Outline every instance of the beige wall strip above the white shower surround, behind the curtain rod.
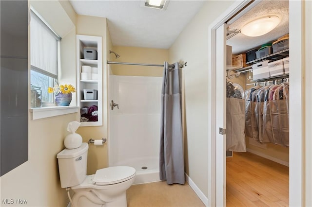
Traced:
[[[164, 61], [168, 61], [168, 50], [165, 49], [114, 46], [111, 50], [120, 55], [120, 57], [116, 59], [115, 54], [111, 54], [111, 61], [113, 62], [163, 65]], [[163, 75], [163, 67], [114, 65], [112, 67], [112, 72], [114, 75], [161, 77]]]

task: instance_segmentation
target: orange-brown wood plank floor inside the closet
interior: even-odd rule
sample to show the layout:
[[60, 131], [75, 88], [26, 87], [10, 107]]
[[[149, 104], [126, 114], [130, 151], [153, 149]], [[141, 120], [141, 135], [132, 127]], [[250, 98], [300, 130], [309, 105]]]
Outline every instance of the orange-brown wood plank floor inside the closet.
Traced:
[[227, 207], [288, 207], [289, 168], [251, 153], [227, 157]]

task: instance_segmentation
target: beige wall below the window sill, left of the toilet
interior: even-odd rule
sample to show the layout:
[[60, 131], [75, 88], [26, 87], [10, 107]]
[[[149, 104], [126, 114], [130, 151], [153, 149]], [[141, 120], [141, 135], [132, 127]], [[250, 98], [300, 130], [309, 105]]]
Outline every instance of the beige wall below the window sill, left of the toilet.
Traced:
[[69, 114], [29, 120], [28, 161], [1, 176], [1, 199], [26, 199], [29, 207], [67, 206], [69, 200], [60, 187], [56, 155], [64, 148], [68, 122], [75, 119], [76, 114]]

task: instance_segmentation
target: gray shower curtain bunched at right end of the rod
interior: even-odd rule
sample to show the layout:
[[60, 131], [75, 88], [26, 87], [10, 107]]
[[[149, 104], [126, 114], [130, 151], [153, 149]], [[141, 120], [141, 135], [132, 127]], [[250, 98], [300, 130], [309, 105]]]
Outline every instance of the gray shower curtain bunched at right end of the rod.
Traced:
[[164, 63], [161, 112], [159, 176], [168, 184], [184, 184], [182, 110], [179, 63]]

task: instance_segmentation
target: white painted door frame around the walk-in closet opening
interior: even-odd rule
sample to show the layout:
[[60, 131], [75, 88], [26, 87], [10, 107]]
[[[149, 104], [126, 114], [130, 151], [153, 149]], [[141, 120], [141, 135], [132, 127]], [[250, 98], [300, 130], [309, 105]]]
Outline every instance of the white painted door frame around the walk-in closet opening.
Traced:
[[[216, 62], [223, 61], [216, 56], [216, 29], [222, 24], [227, 22], [231, 17], [244, 8], [250, 1], [235, 1], [223, 14], [216, 18], [216, 20], [208, 27], [208, 102], [209, 111], [211, 116], [208, 119], [208, 151], [210, 152], [208, 158], [208, 196], [209, 206], [216, 206], [224, 203], [225, 192], [222, 190], [216, 191], [216, 189], [226, 190], [226, 186], [223, 186], [224, 181], [216, 180], [217, 169], [223, 169], [222, 167], [216, 167], [217, 165], [223, 165], [223, 160], [218, 159], [216, 156], [216, 94], [217, 94], [217, 79], [216, 79]], [[255, 1], [259, 2], [259, 1]], [[289, 165], [289, 205], [290, 206], [304, 206], [304, 138], [305, 138], [305, 122], [304, 122], [304, 110], [305, 110], [305, 88], [304, 88], [304, 43], [302, 38], [304, 37], [304, 2], [302, 1], [289, 1], [289, 33], [292, 36], [290, 38], [290, 79], [292, 87], [290, 89], [290, 165]], [[299, 15], [300, 14], [300, 15]], [[224, 51], [226, 53], [226, 51]], [[220, 80], [219, 80], [220, 81]], [[301, 91], [301, 92], [295, 92]], [[224, 112], [225, 114], [226, 112]], [[222, 126], [221, 126], [222, 127]], [[224, 173], [221, 172], [221, 173]], [[301, 182], [300, 182], [301, 181]], [[226, 185], [226, 183], [224, 183]], [[216, 188], [217, 187], [217, 188]], [[226, 203], [223, 204], [226, 206]]]

